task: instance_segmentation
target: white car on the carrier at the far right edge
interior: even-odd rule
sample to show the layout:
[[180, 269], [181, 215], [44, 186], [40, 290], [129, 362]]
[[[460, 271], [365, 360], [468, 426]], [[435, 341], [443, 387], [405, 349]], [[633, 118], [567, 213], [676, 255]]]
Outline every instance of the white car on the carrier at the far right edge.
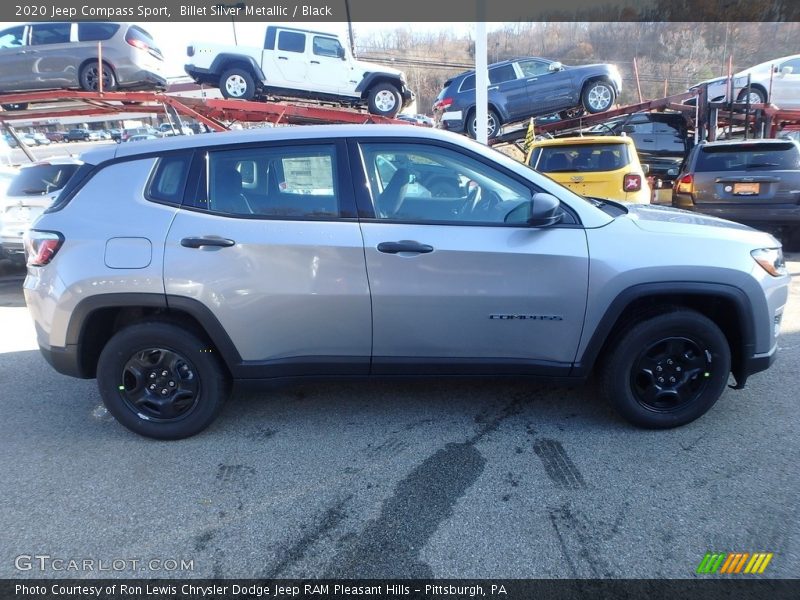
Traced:
[[[733, 75], [733, 98], [747, 100], [747, 78], [750, 77], [750, 104], [763, 104], [769, 99], [779, 108], [800, 109], [800, 54], [768, 60]], [[730, 82], [727, 77], [702, 81], [690, 88], [708, 86], [708, 99], [727, 101]], [[770, 90], [772, 90], [770, 95]]]

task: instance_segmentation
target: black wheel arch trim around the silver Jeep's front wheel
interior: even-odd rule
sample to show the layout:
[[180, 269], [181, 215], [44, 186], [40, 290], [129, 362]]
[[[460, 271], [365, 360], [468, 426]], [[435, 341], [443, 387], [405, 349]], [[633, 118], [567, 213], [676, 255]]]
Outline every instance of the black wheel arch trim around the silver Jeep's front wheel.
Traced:
[[659, 296], [669, 297], [675, 295], [709, 296], [733, 302], [736, 307], [737, 322], [741, 328], [739, 332], [741, 346], [736, 349], [740, 352], [741, 360], [738, 361], [738, 364], [731, 365], [737, 387], [744, 385], [748, 375], [766, 368], [761, 367], [760, 364], [757, 366], [759, 361], [753, 361], [753, 357], [756, 354], [756, 332], [754, 320], [751, 316], [753, 315], [753, 306], [744, 290], [723, 283], [666, 281], [638, 284], [623, 290], [603, 313], [583, 355], [578, 357], [579, 360], [576, 360], [570, 375], [588, 377], [600, 358], [600, 351], [608, 341], [617, 320], [634, 301], [648, 297], [658, 298]]

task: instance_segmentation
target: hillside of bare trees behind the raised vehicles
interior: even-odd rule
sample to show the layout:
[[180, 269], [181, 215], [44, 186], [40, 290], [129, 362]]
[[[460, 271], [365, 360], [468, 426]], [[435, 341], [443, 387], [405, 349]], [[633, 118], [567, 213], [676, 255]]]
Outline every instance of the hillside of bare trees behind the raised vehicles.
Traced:
[[[419, 112], [431, 106], [446, 79], [474, 68], [469, 35], [418, 32], [412, 26], [356, 38], [359, 56], [403, 69]], [[703, 79], [800, 53], [800, 23], [549, 22], [508, 23], [488, 35], [489, 63], [541, 56], [564, 64], [613, 63], [623, 77], [622, 103], [661, 98]]]

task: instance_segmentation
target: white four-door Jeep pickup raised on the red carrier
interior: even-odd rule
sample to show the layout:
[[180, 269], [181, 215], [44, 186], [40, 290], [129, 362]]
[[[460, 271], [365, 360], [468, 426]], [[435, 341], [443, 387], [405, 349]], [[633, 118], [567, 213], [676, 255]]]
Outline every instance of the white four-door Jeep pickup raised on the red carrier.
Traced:
[[366, 106], [394, 116], [414, 93], [402, 71], [356, 60], [334, 33], [267, 27], [263, 48], [193, 42], [186, 73], [218, 87], [225, 98], [252, 100], [264, 94]]

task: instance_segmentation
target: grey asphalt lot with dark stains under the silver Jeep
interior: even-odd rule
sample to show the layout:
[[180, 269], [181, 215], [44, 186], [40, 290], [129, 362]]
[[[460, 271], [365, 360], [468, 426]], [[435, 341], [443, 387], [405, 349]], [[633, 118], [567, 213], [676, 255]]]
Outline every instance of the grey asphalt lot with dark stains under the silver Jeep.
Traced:
[[763, 576], [796, 577], [790, 258], [779, 361], [677, 430], [632, 428], [591, 386], [319, 382], [238, 392], [178, 442], [50, 369], [0, 264], [0, 577], [686, 578], [708, 551], [773, 552]]

